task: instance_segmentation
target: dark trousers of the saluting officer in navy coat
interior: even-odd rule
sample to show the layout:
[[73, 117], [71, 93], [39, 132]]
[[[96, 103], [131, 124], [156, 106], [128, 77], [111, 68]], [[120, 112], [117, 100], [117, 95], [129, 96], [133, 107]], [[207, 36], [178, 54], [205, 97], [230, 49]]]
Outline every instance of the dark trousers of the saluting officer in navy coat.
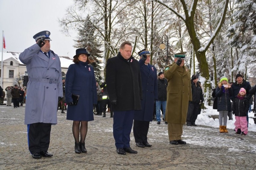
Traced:
[[133, 123], [133, 135], [135, 138], [135, 142], [148, 142], [148, 128], [149, 128], [149, 121], [140, 121], [134, 120]]

